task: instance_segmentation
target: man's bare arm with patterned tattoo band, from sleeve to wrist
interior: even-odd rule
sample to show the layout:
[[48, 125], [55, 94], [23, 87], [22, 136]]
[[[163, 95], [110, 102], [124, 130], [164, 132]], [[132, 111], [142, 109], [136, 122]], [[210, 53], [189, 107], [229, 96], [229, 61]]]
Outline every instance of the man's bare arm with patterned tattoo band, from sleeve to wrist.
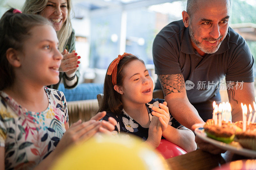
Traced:
[[188, 101], [182, 74], [158, 75], [158, 79], [164, 92], [164, 100], [167, 102], [172, 116], [180, 124], [191, 129], [193, 124], [204, 122]]

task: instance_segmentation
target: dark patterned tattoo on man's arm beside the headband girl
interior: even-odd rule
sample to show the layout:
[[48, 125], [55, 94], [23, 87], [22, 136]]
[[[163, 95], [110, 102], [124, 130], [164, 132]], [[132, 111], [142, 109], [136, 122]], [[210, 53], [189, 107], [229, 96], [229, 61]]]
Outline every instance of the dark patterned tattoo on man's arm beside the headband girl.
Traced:
[[164, 91], [164, 96], [170, 93], [183, 92], [184, 81], [182, 74], [158, 75], [158, 78], [161, 82], [161, 86]]

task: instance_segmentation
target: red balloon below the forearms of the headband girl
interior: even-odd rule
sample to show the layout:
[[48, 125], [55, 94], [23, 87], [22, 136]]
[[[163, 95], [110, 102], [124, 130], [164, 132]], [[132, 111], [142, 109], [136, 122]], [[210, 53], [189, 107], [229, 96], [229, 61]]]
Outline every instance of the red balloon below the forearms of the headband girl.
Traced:
[[180, 146], [177, 146], [166, 139], [161, 139], [160, 145], [156, 148], [156, 150], [163, 155], [164, 159], [187, 153]]

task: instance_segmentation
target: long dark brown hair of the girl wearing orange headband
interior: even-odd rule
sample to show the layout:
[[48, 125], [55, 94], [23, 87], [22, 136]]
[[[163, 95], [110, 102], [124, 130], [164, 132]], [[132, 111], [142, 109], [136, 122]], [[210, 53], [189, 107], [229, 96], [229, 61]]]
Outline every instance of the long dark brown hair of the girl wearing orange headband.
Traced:
[[[122, 60], [119, 61], [117, 65], [117, 74], [116, 74], [116, 85], [117, 86], [123, 86], [124, 82], [124, 68], [128, 63], [130, 63], [133, 60], [139, 60], [143, 64], [144, 61], [139, 59], [138, 57], [134, 55], [125, 56]], [[109, 66], [108, 66], [109, 67]], [[103, 90], [103, 99], [100, 105], [100, 109], [98, 112], [101, 111], [107, 111], [107, 112], [113, 112], [116, 115], [120, 114], [123, 110], [123, 103], [121, 101], [121, 94], [117, 93], [114, 89], [114, 85], [112, 83], [112, 75], [106, 74], [105, 81], [104, 81], [104, 90]]]

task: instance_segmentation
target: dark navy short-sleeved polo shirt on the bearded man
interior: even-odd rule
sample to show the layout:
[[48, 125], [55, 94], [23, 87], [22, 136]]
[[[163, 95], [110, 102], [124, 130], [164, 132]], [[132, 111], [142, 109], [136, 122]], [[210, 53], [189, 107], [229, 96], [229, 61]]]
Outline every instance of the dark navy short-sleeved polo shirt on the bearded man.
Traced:
[[254, 81], [254, 60], [250, 48], [230, 27], [218, 51], [202, 57], [193, 48], [183, 21], [174, 21], [156, 35], [153, 60], [156, 74], [182, 73], [185, 82], [194, 83], [193, 89], [186, 90], [190, 103], [201, 103], [212, 98], [219, 91], [220, 81], [225, 76], [226, 82]]

